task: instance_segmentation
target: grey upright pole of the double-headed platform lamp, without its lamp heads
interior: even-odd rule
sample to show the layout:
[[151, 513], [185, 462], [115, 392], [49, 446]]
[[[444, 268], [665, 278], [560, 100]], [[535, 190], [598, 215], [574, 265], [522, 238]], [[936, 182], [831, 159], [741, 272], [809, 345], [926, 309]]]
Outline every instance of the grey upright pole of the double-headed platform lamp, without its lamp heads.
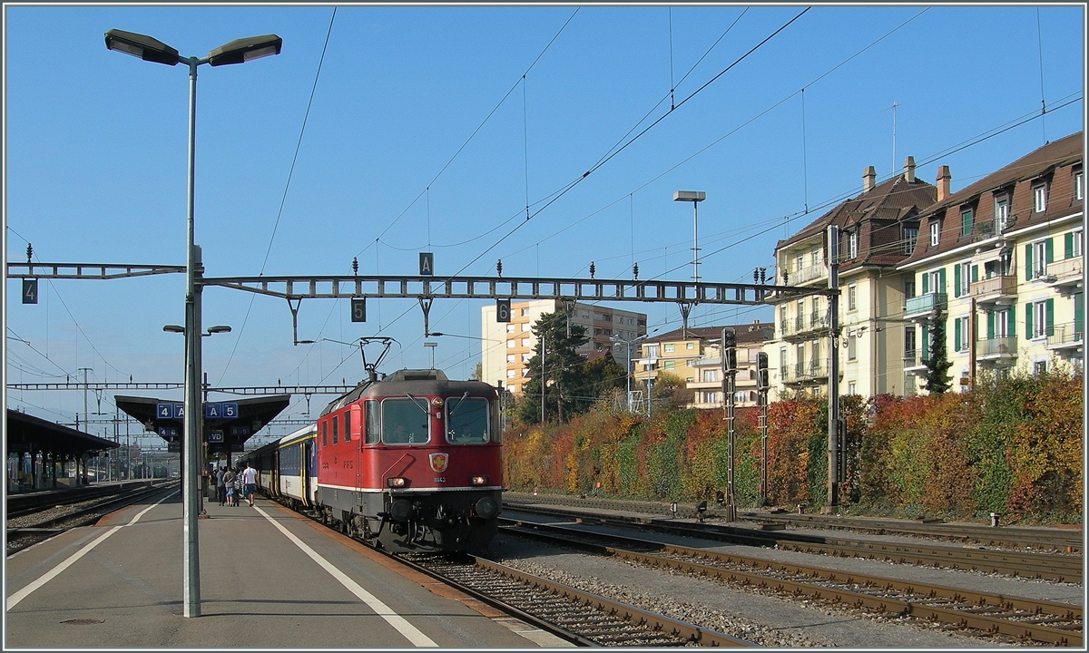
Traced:
[[200, 293], [196, 276], [199, 264], [193, 229], [193, 198], [196, 163], [197, 121], [197, 63], [191, 57], [189, 64], [189, 160], [188, 189], [186, 193], [186, 241], [185, 241], [185, 468], [182, 471], [182, 513], [185, 553], [182, 557], [184, 571], [184, 596], [182, 614], [185, 617], [200, 616], [200, 552], [197, 545], [197, 515], [199, 506], [200, 480]]

